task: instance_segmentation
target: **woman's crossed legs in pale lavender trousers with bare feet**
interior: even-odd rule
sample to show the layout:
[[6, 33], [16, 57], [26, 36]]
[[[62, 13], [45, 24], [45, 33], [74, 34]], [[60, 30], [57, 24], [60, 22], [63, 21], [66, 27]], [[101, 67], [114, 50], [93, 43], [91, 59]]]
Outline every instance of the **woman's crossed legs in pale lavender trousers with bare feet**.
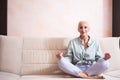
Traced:
[[64, 57], [62, 57], [58, 61], [58, 67], [65, 73], [76, 76], [76, 77], [89, 78], [89, 79], [94, 79], [94, 78], [101, 79], [102, 76], [98, 76], [98, 75], [100, 75], [101, 73], [103, 73], [105, 70], [108, 69], [109, 63], [108, 61], [101, 59], [100, 61], [96, 62], [91, 67], [89, 67], [86, 72], [82, 72], [80, 68], [73, 65], [72, 63], [67, 61]]

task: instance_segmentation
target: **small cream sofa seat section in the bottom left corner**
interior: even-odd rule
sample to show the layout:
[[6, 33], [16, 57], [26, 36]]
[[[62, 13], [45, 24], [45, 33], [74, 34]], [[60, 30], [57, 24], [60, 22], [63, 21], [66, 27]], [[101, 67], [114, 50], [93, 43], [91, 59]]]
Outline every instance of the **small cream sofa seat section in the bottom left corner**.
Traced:
[[19, 80], [20, 76], [14, 73], [0, 72], [0, 80]]

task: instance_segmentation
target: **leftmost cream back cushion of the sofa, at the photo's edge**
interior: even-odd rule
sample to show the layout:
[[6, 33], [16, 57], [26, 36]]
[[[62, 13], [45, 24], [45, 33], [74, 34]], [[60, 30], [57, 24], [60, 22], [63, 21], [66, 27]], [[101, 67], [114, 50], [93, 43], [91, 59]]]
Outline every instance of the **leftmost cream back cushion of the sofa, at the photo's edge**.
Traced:
[[1, 71], [20, 73], [22, 43], [20, 37], [0, 36]]

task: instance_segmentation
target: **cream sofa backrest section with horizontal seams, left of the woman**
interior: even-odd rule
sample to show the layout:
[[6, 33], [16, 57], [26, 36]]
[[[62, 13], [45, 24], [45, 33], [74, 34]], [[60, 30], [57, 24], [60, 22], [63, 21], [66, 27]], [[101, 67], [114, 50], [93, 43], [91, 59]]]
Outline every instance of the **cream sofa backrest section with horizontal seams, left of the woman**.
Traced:
[[24, 38], [21, 74], [56, 74], [56, 54], [66, 52], [69, 39]]

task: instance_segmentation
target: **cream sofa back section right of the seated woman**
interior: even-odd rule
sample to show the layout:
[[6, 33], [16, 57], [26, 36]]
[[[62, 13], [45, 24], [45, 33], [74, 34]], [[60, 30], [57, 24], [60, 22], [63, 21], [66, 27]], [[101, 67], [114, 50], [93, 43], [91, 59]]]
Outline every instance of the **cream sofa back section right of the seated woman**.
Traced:
[[120, 48], [119, 48], [119, 38], [118, 37], [106, 37], [98, 39], [103, 53], [110, 53], [111, 59], [110, 68], [108, 71], [120, 69]]

